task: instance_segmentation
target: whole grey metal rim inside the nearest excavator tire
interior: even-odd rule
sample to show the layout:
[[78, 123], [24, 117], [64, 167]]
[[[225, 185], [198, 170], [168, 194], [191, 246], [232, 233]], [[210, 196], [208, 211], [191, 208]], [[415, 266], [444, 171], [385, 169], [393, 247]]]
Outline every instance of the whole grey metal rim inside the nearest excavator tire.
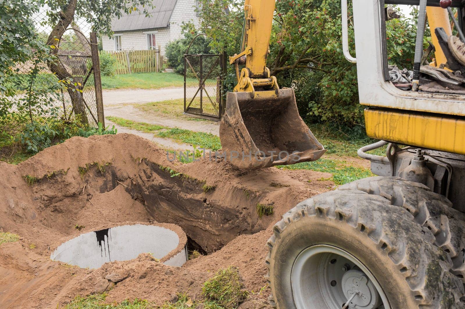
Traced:
[[300, 252], [291, 272], [297, 309], [391, 309], [366, 266], [332, 245], [313, 245]]

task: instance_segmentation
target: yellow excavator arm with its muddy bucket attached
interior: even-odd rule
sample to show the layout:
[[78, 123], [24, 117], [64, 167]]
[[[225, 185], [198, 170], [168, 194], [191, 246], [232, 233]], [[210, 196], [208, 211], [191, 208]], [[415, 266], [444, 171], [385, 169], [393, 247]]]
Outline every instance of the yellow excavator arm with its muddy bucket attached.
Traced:
[[241, 52], [230, 57], [238, 84], [219, 129], [224, 156], [242, 169], [318, 160], [326, 150], [299, 116], [294, 91], [280, 89], [266, 67], [274, 1], [246, 0], [244, 9]]

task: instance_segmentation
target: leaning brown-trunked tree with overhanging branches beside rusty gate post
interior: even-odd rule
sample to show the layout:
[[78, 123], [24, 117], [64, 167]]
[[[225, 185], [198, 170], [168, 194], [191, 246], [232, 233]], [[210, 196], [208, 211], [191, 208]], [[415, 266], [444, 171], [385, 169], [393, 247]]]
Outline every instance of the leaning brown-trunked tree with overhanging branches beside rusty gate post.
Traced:
[[[53, 56], [58, 55], [57, 44], [72, 25], [75, 19], [85, 19], [92, 25], [92, 30], [98, 33], [106, 33], [111, 36], [111, 20], [119, 18], [123, 14], [140, 11], [149, 15], [149, 9], [153, 8], [151, 0], [39, 0], [41, 6], [47, 6], [48, 20], [46, 23], [52, 27], [46, 44], [51, 47]], [[73, 76], [58, 61], [47, 61], [47, 65], [56, 76], [66, 83], [66, 90], [71, 97], [74, 113], [80, 115], [83, 122], [87, 121], [86, 109], [80, 92], [80, 85], [73, 82]]]

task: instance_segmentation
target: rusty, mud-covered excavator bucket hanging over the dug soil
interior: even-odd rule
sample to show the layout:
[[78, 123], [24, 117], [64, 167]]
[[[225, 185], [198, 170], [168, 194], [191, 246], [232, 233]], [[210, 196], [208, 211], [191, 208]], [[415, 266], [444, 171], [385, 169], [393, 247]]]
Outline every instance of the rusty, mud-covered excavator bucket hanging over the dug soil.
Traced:
[[259, 169], [318, 160], [326, 149], [299, 116], [294, 90], [228, 92], [219, 137], [227, 161]]

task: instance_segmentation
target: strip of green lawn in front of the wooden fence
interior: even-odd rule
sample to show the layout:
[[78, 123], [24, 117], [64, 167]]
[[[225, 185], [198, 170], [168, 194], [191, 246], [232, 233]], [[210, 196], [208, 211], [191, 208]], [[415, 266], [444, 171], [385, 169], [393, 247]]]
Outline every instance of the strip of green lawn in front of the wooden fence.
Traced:
[[[188, 78], [194, 82], [195, 79]], [[114, 77], [102, 76], [103, 89], [160, 89], [183, 87], [184, 76], [177, 73], [133, 73], [119, 74]]]

